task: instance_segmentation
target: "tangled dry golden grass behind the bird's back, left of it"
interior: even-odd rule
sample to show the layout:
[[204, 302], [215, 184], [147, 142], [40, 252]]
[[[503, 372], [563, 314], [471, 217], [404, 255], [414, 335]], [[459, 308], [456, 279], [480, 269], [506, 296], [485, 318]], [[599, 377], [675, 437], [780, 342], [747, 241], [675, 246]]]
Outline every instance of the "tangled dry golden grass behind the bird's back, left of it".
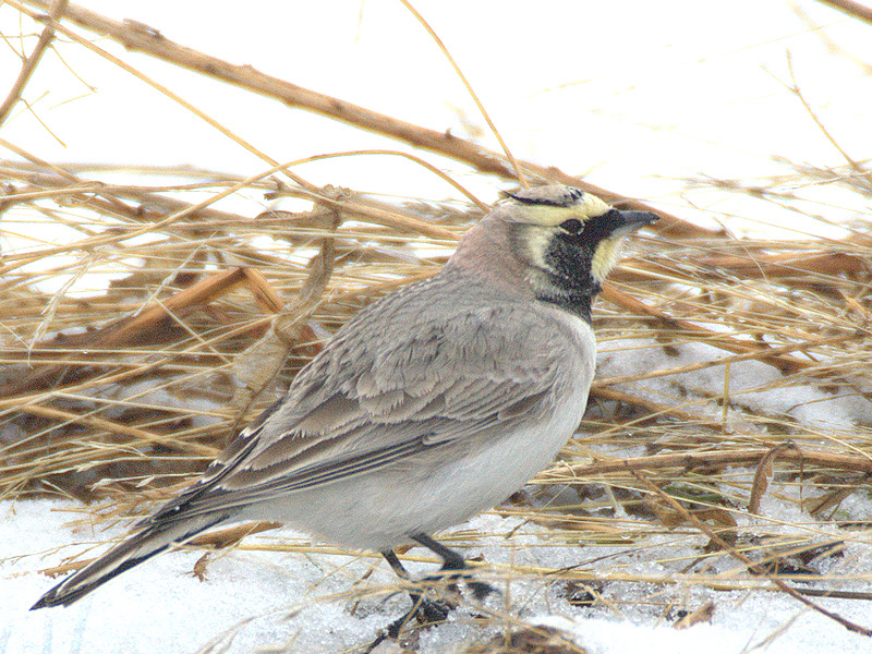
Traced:
[[[245, 395], [234, 375], [272, 385], [257, 398], [262, 408], [317, 350], [313, 327], [334, 331], [376, 296], [432, 274], [444, 255], [424, 256], [421, 246], [447, 255], [453, 242], [324, 208], [254, 218], [208, 209], [168, 220], [184, 201], [144, 205], [142, 186], [106, 185], [96, 195], [71, 184], [60, 194], [35, 191], [47, 178], [60, 181], [51, 170], [8, 164], [3, 174], [21, 190], [4, 220], [12, 249], [0, 395], [5, 426], [26, 434], [4, 444], [3, 497], [49, 488], [92, 497], [97, 480], [147, 488], [201, 469], [252, 416], [246, 398], [233, 399]], [[145, 185], [147, 172], [136, 174]], [[210, 184], [147, 193], [186, 197]], [[343, 202], [383, 211], [352, 195]], [[448, 237], [471, 219], [443, 213], [428, 225]], [[45, 239], [58, 233], [63, 245]], [[283, 347], [275, 353], [279, 378], [249, 379], [263, 375], [264, 360], [258, 350], [247, 371], [245, 349], [272, 325], [292, 338], [287, 360]]]

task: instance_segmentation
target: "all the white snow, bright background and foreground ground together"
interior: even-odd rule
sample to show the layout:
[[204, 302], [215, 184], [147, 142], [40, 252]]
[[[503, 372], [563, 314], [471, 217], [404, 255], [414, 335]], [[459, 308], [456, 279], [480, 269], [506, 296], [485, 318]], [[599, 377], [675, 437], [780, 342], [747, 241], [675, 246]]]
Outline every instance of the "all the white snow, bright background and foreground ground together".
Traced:
[[[142, 21], [170, 39], [234, 63], [251, 63], [413, 123], [463, 136], [470, 126], [463, 114], [472, 117], [472, 126], [482, 123], [443, 56], [423, 39], [421, 27], [398, 2], [288, 3], [292, 14], [282, 13], [279, 3], [257, 1], [246, 3], [243, 11], [235, 4], [215, 11], [214, 2], [87, 0], [84, 4], [113, 19]], [[760, 229], [770, 233], [774, 227], [783, 228], [779, 233], [786, 238], [797, 238], [797, 231], [840, 233], [822, 221], [800, 222], [798, 213], [779, 213], [774, 206], [763, 215], [758, 205], [748, 210], [752, 201], [741, 196], [712, 190], [682, 192], [680, 180], [789, 172], [789, 166], [774, 160], [776, 155], [822, 167], [844, 164], [782, 85], [790, 80], [788, 50], [799, 84], [831, 133], [849, 143], [857, 158], [868, 156], [872, 145], [868, 129], [872, 80], [864, 68], [872, 43], [868, 26], [812, 0], [794, 3], [800, 13], [791, 3], [754, 0], [732, 2], [728, 11], [689, 0], [596, 5], [550, 1], [535, 8], [529, 2], [460, 0], [419, 4], [516, 156], [570, 173], [588, 171], [585, 179], [592, 183], [644, 197], [698, 222], [729, 219], [735, 233]], [[17, 34], [17, 13], [8, 4], [0, 12], [2, 33]], [[843, 48], [844, 56], [832, 44]], [[106, 40], [99, 45], [129, 57], [146, 74], [181, 92], [277, 160], [386, 147], [382, 137], [289, 111], [279, 102], [141, 55], [125, 55]], [[191, 164], [244, 175], [268, 168], [129, 74], [69, 44], [58, 47], [64, 61], [48, 52], [25, 96], [63, 143], [21, 107], [2, 125], [3, 138], [49, 161]], [[86, 92], [68, 64], [84, 74], [97, 93]], [[9, 88], [20, 65], [14, 52], [0, 59], [1, 88]], [[492, 136], [481, 142], [496, 149]], [[437, 157], [428, 160], [456, 173], [483, 199], [495, 199], [491, 180], [471, 178]], [[451, 192], [445, 182], [396, 157], [335, 159], [298, 172], [316, 184], [392, 195], [440, 198]], [[818, 193], [814, 197], [826, 202], [826, 217], [836, 223], [859, 215], [856, 206], [843, 202], [844, 196], [827, 195], [837, 194], [832, 187], [796, 191]], [[250, 203], [246, 198], [246, 206]], [[259, 197], [255, 203], [264, 204]], [[8, 211], [4, 220], [11, 220], [14, 211]], [[4, 234], [4, 251], [10, 239]], [[62, 262], [56, 264], [60, 270]], [[56, 276], [47, 283], [59, 288], [66, 279]], [[659, 344], [651, 342], [604, 343], [598, 376], [633, 375], [725, 355], [701, 343], [676, 348], [677, 356], [666, 356]], [[774, 390], [767, 385], [777, 374], [758, 362], [731, 364], [730, 413], [737, 420], [746, 408], [789, 414], [810, 429], [872, 423], [870, 403], [858, 395], [829, 393], [802, 380]], [[653, 399], [687, 393], [688, 410], [719, 416], [719, 408], [706, 398], [723, 391], [724, 367], [687, 373], [680, 380], [643, 379], [628, 383], [627, 388]], [[153, 399], [179, 403], [158, 393]], [[22, 436], [4, 429], [0, 443]], [[746, 482], [750, 474], [736, 471], [737, 479]], [[843, 540], [841, 555], [820, 564], [820, 571], [834, 579], [804, 582], [803, 588], [833, 588], [845, 580], [838, 590], [872, 591], [869, 536], [813, 519], [799, 508], [801, 491], [773, 480], [762, 517], [740, 516], [739, 528], [763, 525], [768, 533], [786, 535], [799, 530], [815, 542]], [[839, 510], [846, 519], [867, 520], [872, 506], [868, 496], [856, 493]], [[501, 593], [484, 606], [465, 597], [448, 622], [403, 638], [419, 639], [424, 654], [458, 652], [493, 633], [475, 622], [474, 616], [483, 614], [501, 616], [511, 626], [555, 627], [592, 654], [872, 652], [872, 640], [784, 593], [760, 590], [765, 583], [749, 581], [741, 566], [726, 556], [711, 556], [698, 565], [712, 566], [714, 579], [732, 583], [736, 590], [706, 590], [690, 582], [683, 569], [701, 556], [706, 537], [690, 529], [639, 536], [646, 524], [630, 517], [627, 521], [635, 540], [626, 545], [560, 541], [549, 537], [547, 530], [499, 512], [458, 525], [451, 533], [459, 540], [450, 544], [468, 556], [481, 556], [483, 569], [477, 574]], [[0, 654], [338, 653], [371, 641], [408, 607], [408, 598], [397, 593], [392, 572], [378, 557], [312, 545], [305, 534], [281, 530], [250, 536], [240, 547], [210, 555], [204, 580], [192, 573], [202, 552], [165, 553], [77, 604], [28, 611], [58, 581], [40, 570], [80, 555], [89, 558], [123, 531], [123, 524], [94, 526], [89, 510], [75, 502], [0, 501]], [[420, 549], [409, 554], [431, 558]], [[583, 569], [602, 583], [604, 603], [573, 606], [561, 583], [534, 573], [516, 572], [507, 582], [500, 571], [509, 565]], [[425, 574], [433, 564], [412, 561], [409, 568]], [[628, 581], [628, 576], [652, 581]], [[670, 605], [673, 613], [694, 610], [707, 600], [715, 603], [711, 623], [685, 630], [665, 623]], [[872, 627], [864, 601], [815, 597], [814, 602]], [[397, 651], [392, 642], [378, 649]]]

